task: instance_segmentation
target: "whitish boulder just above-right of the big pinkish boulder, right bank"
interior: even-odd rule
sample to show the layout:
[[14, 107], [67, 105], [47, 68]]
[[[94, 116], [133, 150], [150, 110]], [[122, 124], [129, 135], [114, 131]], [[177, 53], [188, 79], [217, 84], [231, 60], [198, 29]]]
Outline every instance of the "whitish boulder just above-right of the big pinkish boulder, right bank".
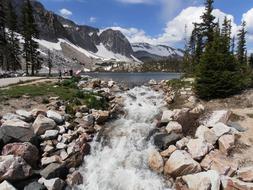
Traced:
[[190, 139], [186, 145], [188, 152], [194, 160], [200, 161], [214, 147], [203, 139]]

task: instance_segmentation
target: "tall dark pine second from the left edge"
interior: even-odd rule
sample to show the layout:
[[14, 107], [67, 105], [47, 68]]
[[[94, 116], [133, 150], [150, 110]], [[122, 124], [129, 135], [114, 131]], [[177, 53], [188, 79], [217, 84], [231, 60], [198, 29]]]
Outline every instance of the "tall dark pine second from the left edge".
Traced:
[[19, 55], [21, 50], [19, 47], [19, 40], [16, 35], [17, 31], [17, 15], [13, 9], [11, 1], [8, 2], [7, 14], [6, 14], [6, 25], [8, 27], [8, 64], [11, 70], [21, 69]]

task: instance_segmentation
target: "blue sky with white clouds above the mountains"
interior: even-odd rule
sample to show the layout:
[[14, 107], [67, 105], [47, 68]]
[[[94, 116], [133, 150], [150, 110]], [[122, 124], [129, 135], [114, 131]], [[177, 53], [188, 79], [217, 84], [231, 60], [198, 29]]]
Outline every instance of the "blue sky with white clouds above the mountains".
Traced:
[[[182, 25], [191, 24], [190, 20], [172, 24], [175, 17], [180, 16], [182, 11], [189, 7], [203, 6], [204, 0], [40, 0], [47, 9], [58, 14], [64, 13], [65, 16], [78, 24], [86, 24], [98, 28], [107, 28], [114, 26], [116, 29], [122, 30], [130, 41], [138, 42], [138, 40], [146, 39], [150, 43], [168, 43], [177, 46], [180, 44], [178, 36], [172, 34], [172, 27], [177, 24], [178, 31], [182, 30]], [[234, 24], [239, 25], [242, 15], [253, 8], [253, 0], [216, 0], [214, 4], [216, 9], [232, 15]], [[188, 10], [190, 11], [190, 10]], [[191, 17], [197, 10], [181, 14], [181, 17]], [[252, 12], [252, 13], [251, 13]], [[253, 9], [247, 18], [252, 16]], [[196, 15], [195, 15], [196, 17]], [[196, 19], [196, 18], [195, 18]], [[175, 21], [175, 20], [174, 20]], [[187, 22], [187, 23], [185, 23]], [[251, 24], [251, 23], [249, 23]], [[168, 28], [170, 27], [170, 28]], [[191, 26], [189, 26], [189, 30]], [[253, 23], [248, 29], [253, 34]], [[181, 31], [182, 32], [182, 31]], [[171, 36], [169, 37], [170, 34]], [[165, 37], [165, 35], [167, 35]], [[253, 35], [252, 35], [253, 36]], [[251, 39], [251, 37], [249, 37]], [[159, 39], [159, 40], [158, 40]], [[182, 39], [181, 39], [182, 40]], [[251, 41], [251, 40], [249, 40]], [[252, 38], [253, 41], [253, 38]], [[251, 47], [251, 42], [249, 43]], [[253, 45], [252, 45], [253, 47]]]

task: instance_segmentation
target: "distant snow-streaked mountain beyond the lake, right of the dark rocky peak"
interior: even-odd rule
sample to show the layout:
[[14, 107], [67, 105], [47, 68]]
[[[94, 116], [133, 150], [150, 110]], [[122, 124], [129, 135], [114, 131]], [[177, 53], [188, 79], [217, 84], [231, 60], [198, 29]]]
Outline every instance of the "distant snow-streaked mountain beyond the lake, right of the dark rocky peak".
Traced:
[[142, 61], [164, 60], [168, 58], [180, 58], [183, 51], [165, 45], [151, 45], [148, 43], [132, 43], [134, 56]]

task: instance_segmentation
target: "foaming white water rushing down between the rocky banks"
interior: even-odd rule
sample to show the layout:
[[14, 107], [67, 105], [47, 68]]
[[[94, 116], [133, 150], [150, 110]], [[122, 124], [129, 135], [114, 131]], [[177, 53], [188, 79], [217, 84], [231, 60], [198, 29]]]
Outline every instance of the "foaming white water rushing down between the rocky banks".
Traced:
[[79, 189], [164, 190], [163, 178], [148, 167], [148, 154], [154, 146], [145, 140], [164, 106], [162, 94], [136, 87], [122, 96], [128, 114], [108, 124], [102, 142], [92, 143], [91, 155], [80, 169], [84, 184]]

